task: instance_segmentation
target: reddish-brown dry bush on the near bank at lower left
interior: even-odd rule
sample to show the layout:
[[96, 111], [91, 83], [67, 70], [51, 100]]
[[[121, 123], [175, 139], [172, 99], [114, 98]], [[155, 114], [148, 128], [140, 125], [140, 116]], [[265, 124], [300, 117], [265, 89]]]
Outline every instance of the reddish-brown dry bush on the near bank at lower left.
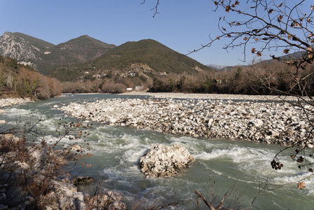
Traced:
[[[85, 155], [81, 149], [74, 153], [69, 148], [60, 150], [57, 147], [64, 138], [71, 140], [86, 137], [91, 125], [84, 125], [80, 121], [60, 121], [60, 130], [56, 132], [55, 140], [48, 144], [46, 135], [40, 134], [35, 128], [39, 121], [0, 127], [0, 187], [6, 186], [14, 191], [18, 189], [18, 193], [14, 195], [19, 196], [22, 194], [20, 189], [23, 189], [32, 197], [35, 209], [45, 206], [45, 195], [50, 191], [51, 180], [67, 172], [68, 164], [90, 155]], [[18, 138], [13, 134], [22, 137]], [[36, 138], [41, 141], [29, 142], [29, 134], [36, 134]]]

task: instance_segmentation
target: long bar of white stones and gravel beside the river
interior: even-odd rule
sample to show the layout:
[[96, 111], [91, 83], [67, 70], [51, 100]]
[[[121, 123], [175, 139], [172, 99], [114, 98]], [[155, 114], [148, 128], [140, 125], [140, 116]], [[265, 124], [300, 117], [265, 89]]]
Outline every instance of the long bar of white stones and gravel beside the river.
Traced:
[[[155, 94], [147, 99], [102, 99], [63, 104], [60, 109], [76, 118], [203, 138], [242, 139], [267, 144], [304, 144], [312, 127], [303, 109], [278, 97], [242, 95]], [[229, 97], [228, 97], [229, 96]], [[232, 96], [233, 98], [230, 98]], [[176, 99], [177, 98], [177, 99]], [[256, 102], [254, 100], [259, 100]], [[313, 109], [311, 106], [304, 106]], [[313, 147], [313, 139], [306, 141]]]

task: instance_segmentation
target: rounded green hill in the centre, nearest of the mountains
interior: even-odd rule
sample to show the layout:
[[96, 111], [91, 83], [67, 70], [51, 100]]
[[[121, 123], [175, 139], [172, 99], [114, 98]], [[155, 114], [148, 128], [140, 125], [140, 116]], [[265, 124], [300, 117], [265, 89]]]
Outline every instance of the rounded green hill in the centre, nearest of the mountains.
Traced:
[[84, 74], [97, 73], [106, 75], [111, 71], [119, 74], [128, 72], [151, 77], [153, 74], [197, 74], [214, 71], [209, 66], [200, 64], [194, 59], [182, 55], [152, 39], [129, 41], [106, 54], [84, 64], [58, 66], [50, 76], [63, 80], [64, 74], [69, 80], [77, 80]]

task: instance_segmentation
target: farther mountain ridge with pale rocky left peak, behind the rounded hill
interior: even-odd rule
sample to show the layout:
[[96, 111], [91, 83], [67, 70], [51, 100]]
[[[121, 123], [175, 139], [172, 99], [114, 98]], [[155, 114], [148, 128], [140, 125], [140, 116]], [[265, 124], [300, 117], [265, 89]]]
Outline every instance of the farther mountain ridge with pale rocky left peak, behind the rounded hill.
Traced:
[[0, 55], [18, 59], [43, 74], [58, 65], [86, 62], [115, 47], [87, 35], [58, 45], [18, 32], [0, 36]]

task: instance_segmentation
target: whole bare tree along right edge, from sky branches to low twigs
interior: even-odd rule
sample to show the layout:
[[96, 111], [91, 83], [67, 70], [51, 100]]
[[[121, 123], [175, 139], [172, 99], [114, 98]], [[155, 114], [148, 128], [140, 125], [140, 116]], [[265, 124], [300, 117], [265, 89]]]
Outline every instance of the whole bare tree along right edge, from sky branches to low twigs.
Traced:
[[[145, 2], [145, 1], [144, 1]], [[143, 3], [144, 3], [143, 2]], [[306, 69], [309, 65], [313, 69], [314, 60], [314, 2], [310, 0], [212, 0], [213, 10], [221, 15], [218, 21], [219, 34], [210, 36], [210, 40], [200, 48], [192, 50], [198, 52], [204, 48], [210, 48], [213, 43], [222, 42], [225, 50], [240, 48], [243, 51], [243, 61], [247, 59], [247, 53], [261, 57], [270, 53], [274, 60], [283, 62], [289, 66], [285, 71], [289, 80], [289, 88], [285, 91], [278, 89], [272, 83], [273, 73], [259, 69], [254, 80], [259, 81], [271, 92], [280, 95], [290, 95], [297, 99], [292, 103], [299, 107], [308, 119], [308, 132], [306, 140], [300, 139], [292, 146], [292, 160], [304, 167], [313, 175], [313, 149], [308, 149], [308, 143], [314, 139], [314, 103], [313, 95], [308, 94], [311, 87], [313, 71]], [[156, 2], [154, 15], [158, 13], [159, 1]], [[281, 55], [274, 55], [281, 52]], [[293, 52], [293, 53], [292, 53]], [[278, 53], [277, 53], [278, 54]], [[282, 164], [279, 154], [275, 155], [271, 166], [280, 169]], [[303, 182], [299, 181], [299, 188], [303, 188]]]

